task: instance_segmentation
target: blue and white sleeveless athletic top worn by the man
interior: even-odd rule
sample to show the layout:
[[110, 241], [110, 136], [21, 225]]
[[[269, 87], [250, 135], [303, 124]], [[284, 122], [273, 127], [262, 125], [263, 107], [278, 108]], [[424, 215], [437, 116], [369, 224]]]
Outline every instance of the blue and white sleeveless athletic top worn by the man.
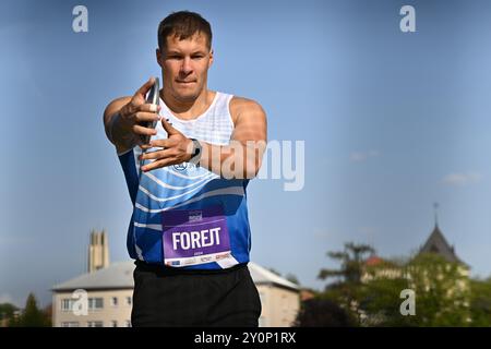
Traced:
[[[207, 110], [193, 120], [175, 117], [160, 99], [160, 116], [187, 137], [228, 145], [235, 127], [229, 111], [231, 98], [217, 92]], [[152, 140], [167, 137], [161, 122], [155, 129], [157, 134]], [[193, 269], [220, 269], [249, 262], [249, 180], [227, 180], [188, 163], [142, 173], [137, 159], [141, 152], [135, 146], [119, 156], [134, 205], [127, 240], [130, 256]], [[188, 230], [178, 230], [184, 227], [184, 218]], [[195, 240], [197, 232], [202, 240]], [[194, 253], [194, 248], [200, 250]]]

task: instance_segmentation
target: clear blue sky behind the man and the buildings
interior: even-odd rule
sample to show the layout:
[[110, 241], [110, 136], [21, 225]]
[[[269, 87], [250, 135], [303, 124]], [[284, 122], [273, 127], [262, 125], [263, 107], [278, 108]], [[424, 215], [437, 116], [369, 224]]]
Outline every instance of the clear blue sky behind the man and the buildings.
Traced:
[[[88, 33], [72, 9], [88, 9]], [[399, 9], [416, 9], [402, 33]], [[0, 302], [86, 269], [92, 229], [128, 258], [131, 202], [101, 113], [155, 62], [156, 29], [191, 10], [214, 31], [212, 89], [258, 100], [268, 139], [306, 142], [306, 182], [254, 180], [256, 263], [322, 288], [348, 241], [408, 255], [440, 227], [491, 275], [491, 9], [486, 1], [2, 1]]]

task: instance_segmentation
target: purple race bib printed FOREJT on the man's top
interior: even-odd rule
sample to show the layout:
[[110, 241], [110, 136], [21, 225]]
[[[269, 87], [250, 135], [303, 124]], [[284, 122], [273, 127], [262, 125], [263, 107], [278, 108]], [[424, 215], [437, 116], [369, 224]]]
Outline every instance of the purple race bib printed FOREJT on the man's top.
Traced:
[[221, 206], [161, 213], [164, 263], [173, 267], [230, 256], [230, 237]]

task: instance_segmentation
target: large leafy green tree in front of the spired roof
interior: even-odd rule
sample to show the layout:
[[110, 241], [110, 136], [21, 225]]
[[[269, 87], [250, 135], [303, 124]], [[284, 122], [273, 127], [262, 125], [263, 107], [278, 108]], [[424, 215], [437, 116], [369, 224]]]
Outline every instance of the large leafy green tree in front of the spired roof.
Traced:
[[[469, 287], [463, 265], [434, 253], [417, 255], [406, 265], [379, 265], [360, 294], [367, 325], [378, 326], [468, 326]], [[384, 273], [381, 273], [384, 272]], [[416, 315], [404, 316], [400, 291], [416, 294]]]

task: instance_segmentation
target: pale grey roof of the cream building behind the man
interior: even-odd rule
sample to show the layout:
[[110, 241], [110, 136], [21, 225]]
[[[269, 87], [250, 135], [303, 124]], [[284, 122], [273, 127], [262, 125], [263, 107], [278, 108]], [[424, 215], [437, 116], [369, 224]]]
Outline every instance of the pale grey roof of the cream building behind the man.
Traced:
[[[287, 279], [250, 262], [248, 264], [254, 284], [273, 284], [299, 291], [299, 286]], [[103, 289], [132, 289], [134, 262], [112, 263], [108, 267], [93, 273], [86, 273], [68, 281], [55, 285], [52, 291], [73, 291], [76, 289], [103, 290]]]

